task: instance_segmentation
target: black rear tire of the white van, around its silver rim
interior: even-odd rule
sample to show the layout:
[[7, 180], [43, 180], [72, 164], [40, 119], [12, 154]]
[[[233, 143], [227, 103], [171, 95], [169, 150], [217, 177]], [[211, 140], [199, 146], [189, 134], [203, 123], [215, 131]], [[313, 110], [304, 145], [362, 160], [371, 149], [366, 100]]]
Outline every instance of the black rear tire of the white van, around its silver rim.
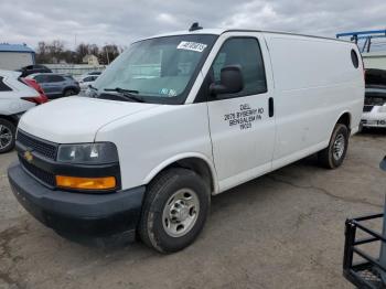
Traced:
[[[336, 142], [343, 140], [344, 144], [341, 146], [343, 151], [341, 153], [334, 153], [336, 150]], [[321, 150], [318, 153], [319, 162], [326, 169], [336, 169], [342, 165], [344, 158], [346, 157], [349, 148], [349, 128], [345, 125], [336, 124], [329, 147]]]

